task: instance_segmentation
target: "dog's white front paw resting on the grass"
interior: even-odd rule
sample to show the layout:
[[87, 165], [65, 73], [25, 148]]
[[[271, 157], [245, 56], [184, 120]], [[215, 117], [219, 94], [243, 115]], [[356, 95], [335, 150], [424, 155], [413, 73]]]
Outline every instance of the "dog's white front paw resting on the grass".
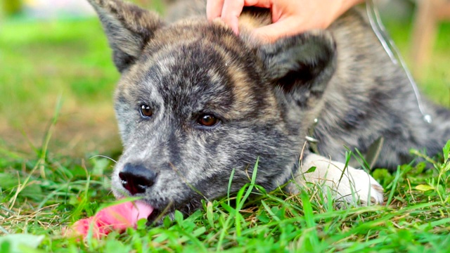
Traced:
[[[316, 169], [311, 169], [316, 167]], [[297, 183], [319, 183], [335, 193], [335, 200], [350, 204], [383, 204], [383, 187], [362, 169], [345, 167], [321, 155], [307, 155], [302, 161]]]

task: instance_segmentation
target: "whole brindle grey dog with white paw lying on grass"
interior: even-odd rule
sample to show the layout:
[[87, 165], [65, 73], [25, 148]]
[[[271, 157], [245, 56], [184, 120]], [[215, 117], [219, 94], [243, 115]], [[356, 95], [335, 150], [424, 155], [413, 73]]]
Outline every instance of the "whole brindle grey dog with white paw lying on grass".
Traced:
[[394, 168], [411, 162], [411, 148], [435, 155], [450, 138], [450, 111], [424, 101], [433, 121], [422, 119], [406, 74], [357, 8], [328, 30], [262, 44], [250, 32], [271, 22], [260, 8], [243, 11], [237, 36], [207, 21], [204, 1], [175, 2], [167, 20], [88, 1], [122, 74], [113, 193], [141, 197], [155, 210], [149, 221], [237, 192], [256, 162], [266, 190], [322, 183], [338, 202], [382, 204], [383, 187], [347, 164], [347, 150], [368, 153], [384, 138], [375, 167]]

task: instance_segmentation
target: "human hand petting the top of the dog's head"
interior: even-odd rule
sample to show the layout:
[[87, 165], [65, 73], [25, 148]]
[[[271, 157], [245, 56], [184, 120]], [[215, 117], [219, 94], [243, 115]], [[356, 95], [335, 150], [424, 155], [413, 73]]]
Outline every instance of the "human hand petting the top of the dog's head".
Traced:
[[207, 18], [221, 18], [239, 33], [238, 18], [244, 6], [270, 8], [272, 24], [253, 31], [264, 41], [299, 34], [306, 30], [325, 29], [342, 13], [364, 0], [207, 0]]

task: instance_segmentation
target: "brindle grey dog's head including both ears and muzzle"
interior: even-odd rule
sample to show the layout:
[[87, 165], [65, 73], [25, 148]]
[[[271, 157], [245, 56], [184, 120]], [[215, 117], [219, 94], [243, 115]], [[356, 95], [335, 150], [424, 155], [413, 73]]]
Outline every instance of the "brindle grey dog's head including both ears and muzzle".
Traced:
[[89, 1], [122, 73], [117, 197], [188, 213], [202, 198], [226, 195], [233, 169], [231, 192], [248, 183], [257, 159], [267, 190], [295, 174], [334, 70], [329, 34], [257, 45], [205, 18], [168, 25], [122, 1]]

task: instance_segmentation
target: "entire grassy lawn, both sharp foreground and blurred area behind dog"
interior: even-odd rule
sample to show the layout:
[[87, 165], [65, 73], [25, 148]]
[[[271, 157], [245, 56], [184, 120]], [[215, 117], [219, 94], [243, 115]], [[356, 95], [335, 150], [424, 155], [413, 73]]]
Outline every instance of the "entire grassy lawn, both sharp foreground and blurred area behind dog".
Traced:
[[[389, 28], [407, 56], [409, 25]], [[450, 24], [439, 29], [419, 85], [450, 105]], [[259, 190], [245, 201], [256, 188], [249, 183], [233, 201], [204, 202], [163, 226], [64, 238], [63, 227], [114, 200], [114, 162], [99, 155], [120, 155], [118, 78], [96, 19], [0, 24], [0, 253], [450, 252], [450, 145], [440, 160], [373, 171], [385, 188], [383, 206], [339, 209], [323, 201], [319, 186], [294, 196]]]

